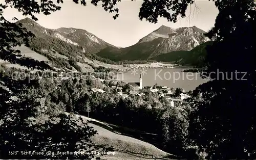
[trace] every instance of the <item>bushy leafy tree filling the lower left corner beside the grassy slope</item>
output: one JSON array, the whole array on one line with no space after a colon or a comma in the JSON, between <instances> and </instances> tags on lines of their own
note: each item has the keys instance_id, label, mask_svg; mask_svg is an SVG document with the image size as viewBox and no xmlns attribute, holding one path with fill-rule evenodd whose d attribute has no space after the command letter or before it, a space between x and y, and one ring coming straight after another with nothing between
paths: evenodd
<instances>
[{"instance_id":1,"label":"bushy leafy tree filling the lower left corner beside the grassy slope","mask_svg":"<svg viewBox=\"0 0 256 160\"><path fill-rule=\"evenodd\" d=\"M2 159L31 159L26 151L45 152L33 158L90 158L89 154L56 154L58 152L95 151L90 140L96 131L75 116L61 112L63 104L48 102L41 104L41 92L34 89L38 81L28 83L24 80L2 76L5 86L0 88L0 150ZM29 88L29 89L28 89ZM15 98L12 98L15 97ZM54 105L54 108L52 106ZM53 113L59 109L60 113ZM43 118L40 118L43 117ZM40 121L43 120L42 122ZM78 124L81 125L78 125ZM56 147L58 146L58 147ZM10 154L12 151L13 154ZM46 154L47 151L55 155Z\"/></svg>"}]
</instances>

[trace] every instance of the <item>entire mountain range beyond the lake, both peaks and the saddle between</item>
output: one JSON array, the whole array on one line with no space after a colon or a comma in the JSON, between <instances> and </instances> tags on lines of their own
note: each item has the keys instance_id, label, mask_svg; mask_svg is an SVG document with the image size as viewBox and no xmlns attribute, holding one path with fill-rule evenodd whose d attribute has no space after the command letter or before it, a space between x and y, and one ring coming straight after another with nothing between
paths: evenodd
<instances>
[{"instance_id":1,"label":"entire mountain range beyond the lake, both peaks and the saddle between","mask_svg":"<svg viewBox=\"0 0 256 160\"><path fill-rule=\"evenodd\" d=\"M47 63L53 67L78 71L81 65L94 68L95 62L114 65L119 61L161 60L161 55L188 51L209 41L204 36L205 32L196 26L173 29L162 25L138 43L121 48L82 29L47 29L30 18L16 23L22 23L23 27L35 35L29 38L26 47L46 57L49 60Z\"/></svg>"}]
</instances>

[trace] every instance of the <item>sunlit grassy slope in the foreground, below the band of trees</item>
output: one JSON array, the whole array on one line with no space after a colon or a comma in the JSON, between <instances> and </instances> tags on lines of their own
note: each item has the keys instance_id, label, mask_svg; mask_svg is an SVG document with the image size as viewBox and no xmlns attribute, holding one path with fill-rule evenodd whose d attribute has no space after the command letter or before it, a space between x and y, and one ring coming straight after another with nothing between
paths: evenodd
<instances>
[{"instance_id":1,"label":"sunlit grassy slope in the foreground, below the band of trees","mask_svg":"<svg viewBox=\"0 0 256 160\"><path fill-rule=\"evenodd\" d=\"M105 155L102 159L174 159L174 155L166 153L152 144L132 138L133 136L124 136L123 132L135 132L136 130L118 127L116 125L104 123L85 116L77 115L84 120L88 120L89 125L98 131L98 135L92 140L95 144L104 146L113 146L115 155Z\"/></svg>"}]
</instances>

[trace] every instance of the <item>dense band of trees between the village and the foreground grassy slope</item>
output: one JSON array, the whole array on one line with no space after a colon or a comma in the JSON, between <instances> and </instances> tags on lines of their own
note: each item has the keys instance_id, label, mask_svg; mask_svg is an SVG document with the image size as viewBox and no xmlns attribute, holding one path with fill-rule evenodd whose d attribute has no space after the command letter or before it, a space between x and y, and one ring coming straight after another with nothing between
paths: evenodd
<instances>
[{"instance_id":1,"label":"dense band of trees between the village and the foreground grassy slope","mask_svg":"<svg viewBox=\"0 0 256 160\"><path fill-rule=\"evenodd\" d=\"M7 69L3 66L2 71L5 71L6 76L12 75L15 71L25 72L25 70ZM37 74L33 75L36 76ZM47 112L56 113L62 110L87 116L87 109L90 106L91 118L141 130L142 135L140 136L143 136L144 132L156 134L157 136L152 137L154 141L150 139L148 141L168 152L180 154L185 151L184 142L187 139L188 127L187 115L191 108L185 110L178 107L173 108L170 106L170 101L160 98L157 93L152 93L146 89L140 91L140 93L146 95L144 97L131 95L127 99L122 99L117 96L120 90L111 87L111 81L102 83L98 79L93 79L90 74L85 78L70 78L60 82L57 81L56 77L54 81L51 78L42 78L38 85L34 87L33 91L36 90L36 92L46 96L45 105L49 110ZM128 94L133 90L131 86L125 83L118 83L117 87L122 87L123 91ZM52 90L52 88L55 89ZM103 89L106 92L94 93L90 90L92 88ZM179 89L177 89L178 93ZM30 92L30 96L33 97L34 94L36 93ZM59 105L51 106L51 101ZM183 102L179 105L188 105L188 103ZM179 125L170 126L170 122L179 122Z\"/></svg>"}]
</instances>

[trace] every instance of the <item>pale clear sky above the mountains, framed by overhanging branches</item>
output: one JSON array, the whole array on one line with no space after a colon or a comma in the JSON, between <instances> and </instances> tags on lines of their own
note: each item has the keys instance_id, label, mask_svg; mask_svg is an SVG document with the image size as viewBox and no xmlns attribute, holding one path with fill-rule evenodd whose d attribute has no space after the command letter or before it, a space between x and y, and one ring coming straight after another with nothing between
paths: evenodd
<instances>
[{"instance_id":1,"label":"pale clear sky above the mountains, framed by overhanging branches","mask_svg":"<svg viewBox=\"0 0 256 160\"><path fill-rule=\"evenodd\" d=\"M0 3L3 1L0 0ZM82 6L75 4L72 0L66 0L63 4L59 4L60 11L47 16L37 14L36 17L38 18L37 23L48 29L61 27L84 29L110 44L127 47L136 44L141 38L158 29L161 25L172 28L195 25L207 32L214 26L216 16L219 13L214 2L197 0L197 8L195 5L188 6L187 17L180 18L176 23L159 18L158 23L154 24L139 20L139 9L142 3L142 0L133 2L122 0L117 4L119 17L115 20L113 19L114 13L105 12L102 7L95 7L90 1L87 6ZM5 9L4 17L9 21L12 21L13 17L25 18L21 12L13 8Z\"/></svg>"}]
</instances>

